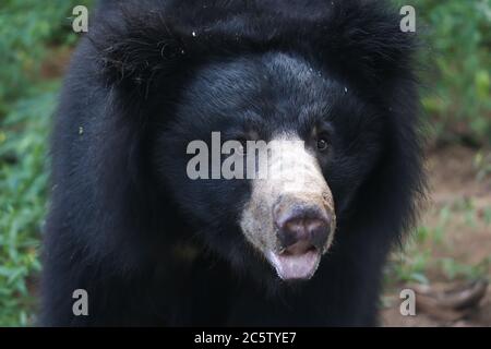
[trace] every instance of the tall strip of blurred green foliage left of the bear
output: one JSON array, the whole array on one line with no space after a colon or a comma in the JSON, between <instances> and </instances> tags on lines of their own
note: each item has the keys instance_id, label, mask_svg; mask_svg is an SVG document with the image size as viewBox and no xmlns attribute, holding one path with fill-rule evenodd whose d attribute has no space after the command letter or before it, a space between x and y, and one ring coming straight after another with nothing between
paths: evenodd
<instances>
[{"instance_id":1,"label":"tall strip of blurred green foliage left of the bear","mask_svg":"<svg viewBox=\"0 0 491 349\"><path fill-rule=\"evenodd\" d=\"M41 68L55 47L76 41L70 16L84 3L0 2L0 326L35 322L47 143L60 86Z\"/></svg>"}]
</instances>

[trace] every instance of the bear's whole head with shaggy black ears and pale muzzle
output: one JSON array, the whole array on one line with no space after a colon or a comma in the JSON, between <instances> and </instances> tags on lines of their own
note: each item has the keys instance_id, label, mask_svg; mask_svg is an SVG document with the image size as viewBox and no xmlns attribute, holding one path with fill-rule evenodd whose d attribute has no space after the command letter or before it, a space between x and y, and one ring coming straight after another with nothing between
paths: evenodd
<instances>
[{"instance_id":1,"label":"bear's whole head with shaggy black ears and pale muzzle","mask_svg":"<svg viewBox=\"0 0 491 349\"><path fill-rule=\"evenodd\" d=\"M260 278L309 279L342 227L397 236L410 220L412 45L375 2L267 3L128 5L95 46L121 110L142 116L163 206L192 228L182 240Z\"/></svg>"}]
</instances>

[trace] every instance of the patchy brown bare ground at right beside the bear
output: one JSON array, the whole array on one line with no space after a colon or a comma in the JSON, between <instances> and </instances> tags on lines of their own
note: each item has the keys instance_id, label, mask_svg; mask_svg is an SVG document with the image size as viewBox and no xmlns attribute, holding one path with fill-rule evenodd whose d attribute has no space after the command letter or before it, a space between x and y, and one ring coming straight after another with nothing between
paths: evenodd
<instances>
[{"instance_id":1,"label":"patchy brown bare ground at right beside the bear","mask_svg":"<svg viewBox=\"0 0 491 349\"><path fill-rule=\"evenodd\" d=\"M452 289L465 284L463 278L450 279L438 262L452 258L457 263L479 268L471 278L491 276L491 225L487 216L491 212L491 176L484 174L484 166L491 164L491 153L481 152L484 160L476 165L477 152L464 147L447 147L434 151L428 159L430 200L422 214L421 224L443 227L441 241L428 239L417 249L429 251L432 263L426 270L430 287ZM450 207L442 226L441 210ZM469 218L470 217L470 218ZM409 252L408 252L409 253ZM467 280L468 281L468 280ZM435 313L420 311L416 316L399 314L402 289L411 285L388 286L385 305L381 311L384 326L491 326L491 286L477 309L462 318L445 318ZM418 304L418 302L417 302Z\"/></svg>"}]
</instances>

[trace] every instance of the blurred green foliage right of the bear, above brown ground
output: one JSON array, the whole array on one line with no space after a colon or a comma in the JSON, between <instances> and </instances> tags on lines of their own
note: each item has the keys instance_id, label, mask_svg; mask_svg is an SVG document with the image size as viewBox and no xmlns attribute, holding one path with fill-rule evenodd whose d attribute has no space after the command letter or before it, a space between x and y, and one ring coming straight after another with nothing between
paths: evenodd
<instances>
[{"instance_id":1,"label":"blurred green foliage right of the bear, above brown ground","mask_svg":"<svg viewBox=\"0 0 491 349\"><path fill-rule=\"evenodd\" d=\"M399 0L424 40L422 105L436 141L491 144L491 0Z\"/></svg>"}]
</instances>

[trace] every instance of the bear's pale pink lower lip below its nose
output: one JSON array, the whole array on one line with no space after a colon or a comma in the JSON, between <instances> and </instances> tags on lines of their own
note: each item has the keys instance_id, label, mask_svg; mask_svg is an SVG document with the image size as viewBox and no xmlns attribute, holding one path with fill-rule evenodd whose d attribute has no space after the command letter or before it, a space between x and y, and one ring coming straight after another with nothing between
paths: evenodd
<instances>
[{"instance_id":1,"label":"bear's pale pink lower lip below its nose","mask_svg":"<svg viewBox=\"0 0 491 349\"><path fill-rule=\"evenodd\" d=\"M266 257L283 280L310 279L321 262L321 253L316 249L308 250L301 254L270 251Z\"/></svg>"}]
</instances>

